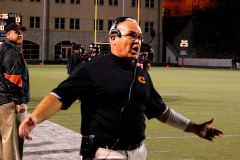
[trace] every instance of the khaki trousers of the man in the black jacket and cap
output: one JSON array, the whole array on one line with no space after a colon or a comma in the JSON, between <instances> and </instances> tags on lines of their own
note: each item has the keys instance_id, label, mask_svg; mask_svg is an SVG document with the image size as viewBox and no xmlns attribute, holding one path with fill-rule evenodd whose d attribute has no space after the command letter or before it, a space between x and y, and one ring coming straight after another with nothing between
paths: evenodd
<instances>
[{"instance_id":1,"label":"khaki trousers of the man in the black jacket and cap","mask_svg":"<svg viewBox=\"0 0 240 160\"><path fill-rule=\"evenodd\" d=\"M0 106L0 160L21 160L23 139L19 137L18 127L25 113L18 113L13 102Z\"/></svg>"}]
</instances>

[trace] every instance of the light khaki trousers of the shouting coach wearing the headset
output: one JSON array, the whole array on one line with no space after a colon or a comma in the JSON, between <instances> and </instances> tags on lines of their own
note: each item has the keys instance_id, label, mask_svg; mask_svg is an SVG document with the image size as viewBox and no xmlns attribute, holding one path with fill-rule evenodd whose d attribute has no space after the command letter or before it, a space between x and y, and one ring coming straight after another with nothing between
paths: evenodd
<instances>
[{"instance_id":1,"label":"light khaki trousers of the shouting coach wearing the headset","mask_svg":"<svg viewBox=\"0 0 240 160\"><path fill-rule=\"evenodd\" d=\"M139 148L132 151L125 150L109 150L99 148L95 154L94 160L146 160L147 149L143 143Z\"/></svg>"}]
</instances>

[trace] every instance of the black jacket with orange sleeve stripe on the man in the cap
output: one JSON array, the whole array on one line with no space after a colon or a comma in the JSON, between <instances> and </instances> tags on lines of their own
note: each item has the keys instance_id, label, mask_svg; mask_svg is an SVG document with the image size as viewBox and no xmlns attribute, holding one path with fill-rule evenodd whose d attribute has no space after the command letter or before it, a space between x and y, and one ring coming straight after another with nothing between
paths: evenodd
<instances>
[{"instance_id":1,"label":"black jacket with orange sleeve stripe on the man in the cap","mask_svg":"<svg viewBox=\"0 0 240 160\"><path fill-rule=\"evenodd\" d=\"M0 105L30 100L29 74L19 48L10 40L0 42Z\"/></svg>"}]
</instances>

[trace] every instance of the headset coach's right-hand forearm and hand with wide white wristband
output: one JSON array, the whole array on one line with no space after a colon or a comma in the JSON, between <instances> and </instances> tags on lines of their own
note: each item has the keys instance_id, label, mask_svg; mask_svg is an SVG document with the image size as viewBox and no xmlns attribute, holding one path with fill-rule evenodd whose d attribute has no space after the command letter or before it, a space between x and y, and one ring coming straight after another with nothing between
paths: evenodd
<instances>
[{"instance_id":1,"label":"headset coach's right-hand forearm and hand with wide white wristband","mask_svg":"<svg viewBox=\"0 0 240 160\"><path fill-rule=\"evenodd\" d=\"M194 133L199 137L212 142L217 136L221 137L223 135L222 131L211 126L214 118L212 118L212 120L208 122L196 124L189 119L183 117L182 115L178 114L174 110L168 108L167 111L163 115L159 116L157 119L162 123L166 123L185 132Z\"/></svg>"}]
</instances>

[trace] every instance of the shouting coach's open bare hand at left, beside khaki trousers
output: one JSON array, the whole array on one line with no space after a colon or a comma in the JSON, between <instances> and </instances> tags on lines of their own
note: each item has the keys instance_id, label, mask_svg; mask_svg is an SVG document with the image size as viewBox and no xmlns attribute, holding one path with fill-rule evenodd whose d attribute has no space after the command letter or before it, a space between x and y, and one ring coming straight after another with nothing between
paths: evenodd
<instances>
[{"instance_id":1,"label":"shouting coach's open bare hand at left, beside khaki trousers","mask_svg":"<svg viewBox=\"0 0 240 160\"><path fill-rule=\"evenodd\" d=\"M19 136L23 139L32 140L29 136L29 133L36 127L37 119L28 117L24 121L22 121L21 125L19 126Z\"/></svg>"}]
</instances>

